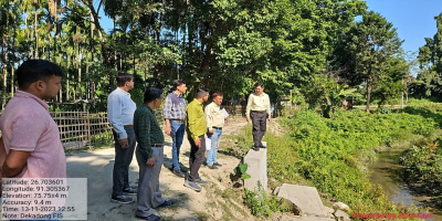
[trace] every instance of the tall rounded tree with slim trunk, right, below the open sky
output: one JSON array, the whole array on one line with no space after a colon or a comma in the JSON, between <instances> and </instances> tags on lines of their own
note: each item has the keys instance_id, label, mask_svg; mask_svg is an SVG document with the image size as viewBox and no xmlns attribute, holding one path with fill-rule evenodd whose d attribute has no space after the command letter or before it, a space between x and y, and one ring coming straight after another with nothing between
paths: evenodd
<instances>
[{"instance_id":1,"label":"tall rounded tree with slim trunk, right, below the open sky","mask_svg":"<svg viewBox=\"0 0 442 221\"><path fill-rule=\"evenodd\" d=\"M343 69L340 75L349 85L364 84L369 112L373 88L387 90L389 86L380 85L398 81L398 74L403 76L407 71L398 62L403 41L393 24L373 11L364 14L338 41L334 65Z\"/></svg>"}]
</instances>

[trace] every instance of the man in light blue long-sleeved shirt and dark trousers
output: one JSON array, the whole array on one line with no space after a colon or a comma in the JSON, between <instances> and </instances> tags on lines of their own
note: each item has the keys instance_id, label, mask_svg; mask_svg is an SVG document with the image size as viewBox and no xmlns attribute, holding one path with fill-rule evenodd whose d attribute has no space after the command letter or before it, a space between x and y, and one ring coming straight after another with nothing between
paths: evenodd
<instances>
[{"instance_id":1,"label":"man in light blue long-sleeved shirt and dark trousers","mask_svg":"<svg viewBox=\"0 0 442 221\"><path fill-rule=\"evenodd\" d=\"M129 186L129 165L136 144L134 112L137 105L128 93L133 88L134 76L120 73L117 75L117 88L107 97L107 118L113 127L115 140L112 202L130 203L134 200L125 194L137 194L137 190Z\"/></svg>"}]
</instances>

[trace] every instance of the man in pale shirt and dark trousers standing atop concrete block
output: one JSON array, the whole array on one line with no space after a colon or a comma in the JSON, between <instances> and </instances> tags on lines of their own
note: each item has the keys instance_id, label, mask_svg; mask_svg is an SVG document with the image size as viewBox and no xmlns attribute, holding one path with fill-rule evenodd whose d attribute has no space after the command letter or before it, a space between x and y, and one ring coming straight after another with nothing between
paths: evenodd
<instances>
[{"instance_id":1,"label":"man in pale shirt and dark trousers standing atop concrete block","mask_svg":"<svg viewBox=\"0 0 442 221\"><path fill-rule=\"evenodd\" d=\"M255 92L249 96L245 116L249 123L252 118L253 150L257 151L260 148L265 148L261 140L267 127L266 119L271 119L271 112L270 98L269 95L264 93L264 85L262 83L256 83L254 91Z\"/></svg>"}]
</instances>

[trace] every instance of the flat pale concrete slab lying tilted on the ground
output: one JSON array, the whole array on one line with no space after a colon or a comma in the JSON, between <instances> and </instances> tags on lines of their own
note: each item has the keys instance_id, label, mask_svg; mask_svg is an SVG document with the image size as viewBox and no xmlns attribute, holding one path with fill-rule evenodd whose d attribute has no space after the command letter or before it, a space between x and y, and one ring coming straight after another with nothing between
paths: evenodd
<instances>
[{"instance_id":1,"label":"flat pale concrete slab lying tilted on the ground","mask_svg":"<svg viewBox=\"0 0 442 221\"><path fill-rule=\"evenodd\" d=\"M314 187L287 185L284 183L277 193L277 197L284 198L294 204L294 210L302 217L328 217L323 201Z\"/></svg>"}]
</instances>

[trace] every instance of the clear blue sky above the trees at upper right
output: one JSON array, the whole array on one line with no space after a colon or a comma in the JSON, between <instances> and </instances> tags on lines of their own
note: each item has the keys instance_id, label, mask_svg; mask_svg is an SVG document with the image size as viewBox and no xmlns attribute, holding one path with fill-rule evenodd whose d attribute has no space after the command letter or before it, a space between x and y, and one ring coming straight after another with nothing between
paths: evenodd
<instances>
[{"instance_id":1,"label":"clear blue sky above the trees at upper right","mask_svg":"<svg viewBox=\"0 0 442 221\"><path fill-rule=\"evenodd\" d=\"M368 10L380 13L397 28L404 40L402 49L419 52L424 38L436 32L434 17L442 12L442 0L366 0Z\"/></svg>"}]
</instances>

